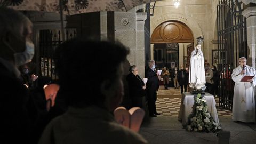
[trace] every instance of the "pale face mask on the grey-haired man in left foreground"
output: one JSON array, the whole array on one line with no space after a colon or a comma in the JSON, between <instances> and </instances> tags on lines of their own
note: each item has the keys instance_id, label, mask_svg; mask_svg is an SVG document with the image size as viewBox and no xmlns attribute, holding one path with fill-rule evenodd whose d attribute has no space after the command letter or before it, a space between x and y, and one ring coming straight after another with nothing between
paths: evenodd
<instances>
[{"instance_id":1,"label":"pale face mask on the grey-haired man in left foreground","mask_svg":"<svg viewBox=\"0 0 256 144\"><path fill-rule=\"evenodd\" d=\"M35 46L31 42L26 42L26 50L24 52L14 53L14 60L16 66L28 63L35 54Z\"/></svg>"}]
</instances>

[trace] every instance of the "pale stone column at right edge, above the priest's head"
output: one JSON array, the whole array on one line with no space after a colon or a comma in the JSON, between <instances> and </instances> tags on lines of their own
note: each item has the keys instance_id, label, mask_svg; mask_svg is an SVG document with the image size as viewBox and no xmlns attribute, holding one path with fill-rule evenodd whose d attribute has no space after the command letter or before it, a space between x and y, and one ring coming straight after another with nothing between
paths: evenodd
<instances>
[{"instance_id":1,"label":"pale stone column at right edge, above the priest's head","mask_svg":"<svg viewBox=\"0 0 256 144\"><path fill-rule=\"evenodd\" d=\"M251 61L252 67L256 68L256 7L248 7L242 15L246 18L247 44L250 50L247 61Z\"/></svg>"}]
</instances>

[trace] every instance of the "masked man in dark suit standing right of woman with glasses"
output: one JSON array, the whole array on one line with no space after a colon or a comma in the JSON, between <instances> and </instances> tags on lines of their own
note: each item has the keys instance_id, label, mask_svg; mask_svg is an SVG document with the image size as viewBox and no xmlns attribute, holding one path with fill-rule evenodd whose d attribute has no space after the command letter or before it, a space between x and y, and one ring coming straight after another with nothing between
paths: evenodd
<instances>
[{"instance_id":1,"label":"masked man in dark suit standing right of woman with glasses","mask_svg":"<svg viewBox=\"0 0 256 144\"><path fill-rule=\"evenodd\" d=\"M148 69L146 71L146 78L148 78L148 81L146 83L146 92L148 99L149 116L151 117L156 117L156 115L160 115L156 112L156 91L159 88L159 84L155 68L155 61L150 60Z\"/></svg>"}]
</instances>

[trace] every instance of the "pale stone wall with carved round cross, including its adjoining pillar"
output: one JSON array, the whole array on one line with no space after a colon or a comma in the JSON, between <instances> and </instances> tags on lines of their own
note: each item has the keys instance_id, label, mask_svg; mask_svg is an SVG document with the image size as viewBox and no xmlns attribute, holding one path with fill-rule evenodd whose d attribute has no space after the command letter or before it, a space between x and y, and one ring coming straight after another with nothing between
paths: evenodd
<instances>
[{"instance_id":1,"label":"pale stone wall with carved round cross, including its adjoining pillar","mask_svg":"<svg viewBox=\"0 0 256 144\"><path fill-rule=\"evenodd\" d=\"M115 12L115 39L130 48L127 60L130 65L138 67L139 75L143 78L145 77L144 23L146 13L135 12L139 8L135 7L129 12Z\"/></svg>"}]
</instances>

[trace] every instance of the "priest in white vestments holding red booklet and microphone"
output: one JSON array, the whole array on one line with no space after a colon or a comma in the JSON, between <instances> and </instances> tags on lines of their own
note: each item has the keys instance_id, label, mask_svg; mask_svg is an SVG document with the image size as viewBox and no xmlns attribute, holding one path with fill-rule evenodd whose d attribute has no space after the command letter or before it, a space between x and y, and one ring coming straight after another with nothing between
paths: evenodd
<instances>
[{"instance_id":1,"label":"priest in white vestments holding red booklet and microphone","mask_svg":"<svg viewBox=\"0 0 256 144\"><path fill-rule=\"evenodd\" d=\"M246 58L239 58L239 66L232 72L235 82L233 97L233 121L255 122L254 86L256 85L256 71L246 65ZM244 69L244 70L243 70ZM241 82L244 76L254 76L248 82Z\"/></svg>"}]
</instances>

